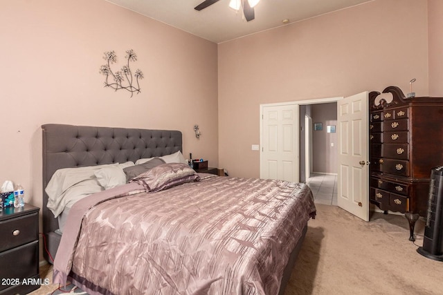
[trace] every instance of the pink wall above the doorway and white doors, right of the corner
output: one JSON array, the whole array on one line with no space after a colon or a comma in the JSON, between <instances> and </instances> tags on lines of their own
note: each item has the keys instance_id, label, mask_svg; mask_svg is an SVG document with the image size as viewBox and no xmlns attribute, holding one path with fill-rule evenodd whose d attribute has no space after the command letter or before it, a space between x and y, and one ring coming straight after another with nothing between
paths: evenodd
<instances>
[{"instance_id":1,"label":"pink wall above the doorway and white doors, right of the corner","mask_svg":"<svg viewBox=\"0 0 443 295\"><path fill-rule=\"evenodd\" d=\"M413 78L428 95L427 19L426 0L376 0L219 44L219 166L260 176L260 104L406 92Z\"/></svg>"}]
</instances>

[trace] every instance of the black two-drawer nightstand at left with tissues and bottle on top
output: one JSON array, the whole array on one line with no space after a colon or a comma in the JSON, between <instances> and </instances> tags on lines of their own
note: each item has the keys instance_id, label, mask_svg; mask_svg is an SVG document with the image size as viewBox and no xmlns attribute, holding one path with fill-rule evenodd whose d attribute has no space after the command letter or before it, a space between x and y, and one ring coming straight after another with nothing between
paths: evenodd
<instances>
[{"instance_id":1,"label":"black two-drawer nightstand at left with tissues and bottle on top","mask_svg":"<svg viewBox=\"0 0 443 295\"><path fill-rule=\"evenodd\" d=\"M39 276L39 208L4 207L0 212L0 294L28 294Z\"/></svg>"}]
</instances>

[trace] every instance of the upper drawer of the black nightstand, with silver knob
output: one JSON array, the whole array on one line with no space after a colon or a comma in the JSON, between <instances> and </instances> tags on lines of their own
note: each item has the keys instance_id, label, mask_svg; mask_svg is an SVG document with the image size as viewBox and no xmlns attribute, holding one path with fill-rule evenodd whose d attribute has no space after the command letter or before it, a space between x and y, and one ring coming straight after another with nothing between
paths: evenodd
<instances>
[{"instance_id":1,"label":"upper drawer of the black nightstand, with silver knob","mask_svg":"<svg viewBox=\"0 0 443 295\"><path fill-rule=\"evenodd\" d=\"M38 239L38 213L32 213L0 222L0 251ZM0 264L1 265L1 264Z\"/></svg>"}]
</instances>

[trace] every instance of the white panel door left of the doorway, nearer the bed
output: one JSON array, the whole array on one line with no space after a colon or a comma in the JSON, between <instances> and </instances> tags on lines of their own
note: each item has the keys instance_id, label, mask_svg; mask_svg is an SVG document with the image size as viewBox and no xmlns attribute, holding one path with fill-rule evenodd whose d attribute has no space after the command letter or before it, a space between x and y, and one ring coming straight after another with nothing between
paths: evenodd
<instances>
[{"instance_id":1,"label":"white panel door left of the doorway, nearer the bed","mask_svg":"<svg viewBox=\"0 0 443 295\"><path fill-rule=\"evenodd\" d=\"M262 106L260 178L298 182L298 104Z\"/></svg>"}]
</instances>

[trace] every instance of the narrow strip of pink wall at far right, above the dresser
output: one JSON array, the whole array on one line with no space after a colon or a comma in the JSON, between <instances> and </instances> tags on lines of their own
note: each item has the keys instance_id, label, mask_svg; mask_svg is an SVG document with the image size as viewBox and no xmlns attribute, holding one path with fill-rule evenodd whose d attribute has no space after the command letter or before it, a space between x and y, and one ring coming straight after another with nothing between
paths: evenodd
<instances>
[{"instance_id":1,"label":"narrow strip of pink wall at far right, above the dresser","mask_svg":"<svg viewBox=\"0 0 443 295\"><path fill-rule=\"evenodd\" d=\"M429 95L443 96L443 1L428 0Z\"/></svg>"}]
</instances>

